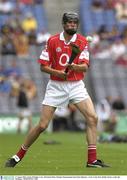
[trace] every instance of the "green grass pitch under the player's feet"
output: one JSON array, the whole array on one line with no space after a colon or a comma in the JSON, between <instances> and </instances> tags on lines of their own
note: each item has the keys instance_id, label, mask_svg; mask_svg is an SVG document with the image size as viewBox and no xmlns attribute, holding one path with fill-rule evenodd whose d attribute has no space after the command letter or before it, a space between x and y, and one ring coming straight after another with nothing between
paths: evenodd
<instances>
[{"instance_id":1,"label":"green grass pitch under the player's feet","mask_svg":"<svg viewBox=\"0 0 127 180\"><path fill-rule=\"evenodd\" d=\"M0 175L127 175L127 144L97 144L98 158L110 168L86 168L87 144L84 133L41 134L15 168L4 163L23 143L24 135L0 135ZM45 145L55 140L58 144Z\"/></svg>"}]
</instances>

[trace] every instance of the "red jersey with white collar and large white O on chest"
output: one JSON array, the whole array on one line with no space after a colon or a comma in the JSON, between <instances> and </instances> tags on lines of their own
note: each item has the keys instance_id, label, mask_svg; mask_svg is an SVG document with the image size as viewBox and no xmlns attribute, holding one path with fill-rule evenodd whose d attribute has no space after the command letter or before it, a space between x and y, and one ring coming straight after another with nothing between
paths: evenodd
<instances>
[{"instance_id":1,"label":"red jersey with white collar and large white O on chest","mask_svg":"<svg viewBox=\"0 0 127 180\"><path fill-rule=\"evenodd\" d=\"M74 43L81 50L81 53L74 59L73 63L86 63L89 66L88 42L86 38L80 34L74 34L70 42L66 43L63 32L49 38L47 47L42 51L38 62L51 66L51 68L56 70L65 70L71 56L70 43ZM63 79L53 75L50 75L50 78L52 80L63 81ZM68 81L77 81L83 78L84 72L76 72L73 70L69 70L68 72Z\"/></svg>"}]
</instances>

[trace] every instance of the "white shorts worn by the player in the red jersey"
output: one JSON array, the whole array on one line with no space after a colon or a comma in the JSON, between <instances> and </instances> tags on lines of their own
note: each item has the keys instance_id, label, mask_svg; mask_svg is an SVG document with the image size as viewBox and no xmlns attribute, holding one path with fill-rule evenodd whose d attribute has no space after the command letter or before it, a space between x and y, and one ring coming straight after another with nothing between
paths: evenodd
<instances>
[{"instance_id":1,"label":"white shorts worn by the player in the red jersey","mask_svg":"<svg viewBox=\"0 0 127 180\"><path fill-rule=\"evenodd\" d=\"M49 80L42 104L53 107L65 107L76 104L89 97L85 84L80 81L53 81Z\"/></svg>"}]
</instances>

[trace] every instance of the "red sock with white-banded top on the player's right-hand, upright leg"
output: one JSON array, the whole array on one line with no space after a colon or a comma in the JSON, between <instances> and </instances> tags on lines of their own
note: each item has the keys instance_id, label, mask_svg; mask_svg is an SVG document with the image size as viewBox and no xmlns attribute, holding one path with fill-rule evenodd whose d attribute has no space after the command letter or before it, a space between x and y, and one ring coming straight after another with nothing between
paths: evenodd
<instances>
[{"instance_id":1,"label":"red sock with white-banded top on the player's right-hand, upright leg","mask_svg":"<svg viewBox=\"0 0 127 180\"><path fill-rule=\"evenodd\" d=\"M97 160L96 157L96 145L88 145L88 163L92 163Z\"/></svg>"}]
</instances>

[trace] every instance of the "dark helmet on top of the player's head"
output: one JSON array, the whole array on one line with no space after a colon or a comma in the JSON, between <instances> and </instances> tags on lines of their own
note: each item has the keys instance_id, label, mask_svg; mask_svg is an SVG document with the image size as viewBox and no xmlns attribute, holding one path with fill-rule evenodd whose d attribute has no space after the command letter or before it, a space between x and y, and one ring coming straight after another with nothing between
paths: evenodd
<instances>
[{"instance_id":1,"label":"dark helmet on top of the player's head","mask_svg":"<svg viewBox=\"0 0 127 180\"><path fill-rule=\"evenodd\" d=\"M79 15L75 12L66 12L63 14L62 23L66 24L68 21L75 21L79 23Z\"/></svg>"}]
</instances>

